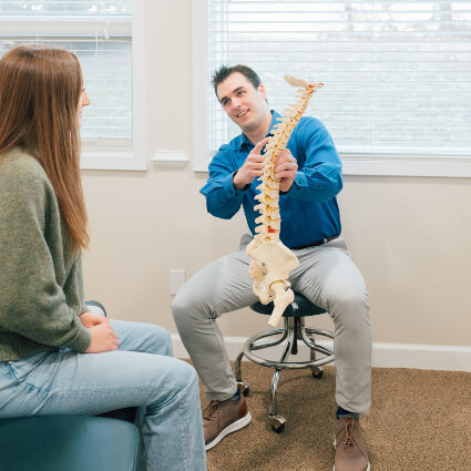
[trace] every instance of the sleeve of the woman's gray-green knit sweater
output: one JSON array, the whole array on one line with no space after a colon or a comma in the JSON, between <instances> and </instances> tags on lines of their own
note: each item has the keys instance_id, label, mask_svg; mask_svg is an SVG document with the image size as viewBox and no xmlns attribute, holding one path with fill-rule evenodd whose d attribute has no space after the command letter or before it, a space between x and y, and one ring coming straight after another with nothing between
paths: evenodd
<instances>
[{"instance_id":1,"label":"sleeve of the woman's gray-green knit sweater","mask_svg":"<svg viewBox=\"0 0 471 471\"><path fill-rule=\"evenodd\" d=\"M61 236L44 233L54 214L59 207L45 175L0 168L0 326L39 344L83 351L91 335L66 303L49 245Z\"/></svg>"}]
</instances>

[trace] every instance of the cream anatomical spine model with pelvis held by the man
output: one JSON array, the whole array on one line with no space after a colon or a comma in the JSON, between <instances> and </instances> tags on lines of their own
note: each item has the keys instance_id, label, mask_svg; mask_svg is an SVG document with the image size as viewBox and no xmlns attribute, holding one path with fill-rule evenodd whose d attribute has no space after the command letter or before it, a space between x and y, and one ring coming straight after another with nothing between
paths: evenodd
<instances>
[{"instance_id":1,"label":"cream anatomical spine model with pelvis held by the man","mask_svg":"<svg viewBox=\"0 0 471 471\"><path fill-rule=\"evenodd\" d=\"M255 196L258 204L254 207L260 213L255 222L257 233L248 244L246 252L250 257L248 273L254 280L254 293L262 304L274 301L275 308L268 324L276 326L286 307L293 303L295 295L288 281L289 274L299 265L296 255L279 239L281 216L279 214L279 183L275 177L274 165L277 155L286 149L293 130L299 123L313 93L322 88L322 83L309 83L294 76L285 75L293 86L298 86L296 103L284 111L284 117L273 131L274 135L266 144L260 193Z\"/></svg>"}]
</instances>

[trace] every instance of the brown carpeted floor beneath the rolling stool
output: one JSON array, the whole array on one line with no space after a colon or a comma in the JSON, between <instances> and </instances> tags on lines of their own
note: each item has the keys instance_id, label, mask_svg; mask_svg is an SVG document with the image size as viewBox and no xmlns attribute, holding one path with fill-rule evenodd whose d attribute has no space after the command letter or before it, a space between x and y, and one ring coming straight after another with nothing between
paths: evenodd
<instances>
[{"instance_id":1,"label":"brown carpeted floor beneath the rolling stool","mask_svg":"<svg viewBox=\"0 0 471 471\"><path fill-rule=\"evenodd\" d=\"M272 375L243 362L253 421L207 452L208 471L332 469L335 368L320 380L308 370L281 372L279 434L266 420ZM371 413L361 424L371 471L471 471L471 373L375 368Z\"/></svg>"}]
</instances>

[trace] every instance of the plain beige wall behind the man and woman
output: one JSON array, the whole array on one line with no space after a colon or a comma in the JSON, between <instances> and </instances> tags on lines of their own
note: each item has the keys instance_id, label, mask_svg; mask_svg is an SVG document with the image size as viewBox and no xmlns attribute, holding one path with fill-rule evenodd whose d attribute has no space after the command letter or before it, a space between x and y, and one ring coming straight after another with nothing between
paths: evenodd
<instances>
[{"instance_id":1,"label":"plain beige wall behind the man and woman","mask_svg":"<svg viewBox=\"0 0 471 471\"><path fill-rule=\"evenodd\" d=\"M147 2L147 19L149 157L158 150L192 157L191 1ZM88 298L103 301L111 317L176 331L170 269L193 275L234 250L246 229L240 214L227 222L206 213L198 194L205 178L191 164L83 172ZM375 341L471 345L469 202L468 178L345 177L344 236L370 293ZM266 318L244 309L219 325L226 336L248 336Z\"/></svg>"}]
</instances>

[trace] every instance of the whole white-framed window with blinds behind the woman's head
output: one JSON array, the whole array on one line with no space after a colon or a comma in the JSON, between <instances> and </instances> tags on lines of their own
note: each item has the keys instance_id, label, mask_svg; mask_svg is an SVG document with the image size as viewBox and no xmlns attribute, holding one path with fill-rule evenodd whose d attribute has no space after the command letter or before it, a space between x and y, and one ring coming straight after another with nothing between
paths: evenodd
<instances>
[{"instance_id":1,"label":"whole white-framed window with blinds behind the woman's head","mask_svg":"<svg viewBox=\"0 0 471 471\"><path fill-rule=\"evenodd\" d=\"M92 102L82 168L145 170L144 0L3 0L0 55L35 42L74 52Z\"/></svg>"}]
</instances>

